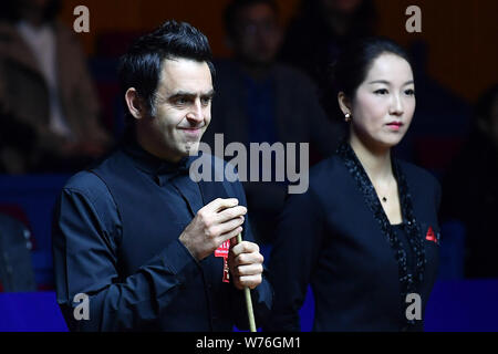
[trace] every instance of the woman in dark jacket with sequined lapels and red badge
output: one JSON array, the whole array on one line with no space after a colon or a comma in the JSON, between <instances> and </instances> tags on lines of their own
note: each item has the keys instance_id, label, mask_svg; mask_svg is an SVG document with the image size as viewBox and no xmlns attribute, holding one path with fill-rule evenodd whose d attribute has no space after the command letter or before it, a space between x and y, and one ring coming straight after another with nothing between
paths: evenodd
<instances>
[{"instance_id":1,"label":"woman in dark jacket with sequined lapels and red badge","mask_svg":"<svg viewBox=\"0 0 498 354\"><path fill-rule=\"evenodd\" d=\"M334 66L347 136L291 195L270 257L270 331L299 331L311 284L314 331L421 331L438 267L439 185L392 148L409 127L415 82L405 51L364 39ZM320 128L320 127L317 127Z\"/></svg>"}]
</instances>

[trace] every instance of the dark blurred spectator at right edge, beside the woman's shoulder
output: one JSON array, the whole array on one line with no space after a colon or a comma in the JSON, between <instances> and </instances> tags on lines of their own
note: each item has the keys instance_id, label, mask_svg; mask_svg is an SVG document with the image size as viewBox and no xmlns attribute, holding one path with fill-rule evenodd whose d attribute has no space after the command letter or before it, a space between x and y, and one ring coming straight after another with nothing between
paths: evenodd
<instances>
[{"instance_id":1,"label":"dark blurred spectator at right edge, beside the woman's shoulder","mask_svg":"<svg viewBox=\"0 0 498 354\"><path fill-rule=\"evenodd\" d=\"M465 277L498 278L498 85L478 100L470 136L443 180L443 218L465 228Z\"/></svg>"}]
</instances>

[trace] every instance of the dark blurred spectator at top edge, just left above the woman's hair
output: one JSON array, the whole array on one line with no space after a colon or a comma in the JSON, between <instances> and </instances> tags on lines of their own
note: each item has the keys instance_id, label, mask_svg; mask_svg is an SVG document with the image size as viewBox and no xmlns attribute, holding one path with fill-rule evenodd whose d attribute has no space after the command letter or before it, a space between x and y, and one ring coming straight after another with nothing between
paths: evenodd
<instances>
[{"instance_id":1,"label":"dark blurred spectator at top edge, just left above the woman's hair","mask_svg":"<svg viewBox=\"0 0 498 354\"><path fill-rule=\"evenodd\" d=\"M322 69L339 58L345 44L373 34L375 19L372 0L302 0L280 56L320 83Z\"/></svg>"}]
</instances>

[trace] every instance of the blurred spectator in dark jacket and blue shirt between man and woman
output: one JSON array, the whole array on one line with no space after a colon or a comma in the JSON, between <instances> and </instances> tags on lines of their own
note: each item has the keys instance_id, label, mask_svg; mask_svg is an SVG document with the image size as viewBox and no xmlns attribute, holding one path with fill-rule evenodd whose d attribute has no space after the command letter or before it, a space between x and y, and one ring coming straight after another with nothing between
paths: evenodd
<instances>
[{"instance_id":1,"label":"blurred spectator in dark jacket and blue shirt between man and woman","mask_svg":"<svg viewBox=\"0 0 498 354\"><path fill-rule=\"evenodd\" d=\"M204 140L211 149L217 133L224 134L225 145L309 143L312 164L333 152L339 127L326 118L312 81L276 62L281 44L278 15L271 0L234 0L227 7L225 27L235 58L215 63L212 121ZM256 237L271 242L286 184L251 181L245 188Z\"/></svg>"}]
</instances>

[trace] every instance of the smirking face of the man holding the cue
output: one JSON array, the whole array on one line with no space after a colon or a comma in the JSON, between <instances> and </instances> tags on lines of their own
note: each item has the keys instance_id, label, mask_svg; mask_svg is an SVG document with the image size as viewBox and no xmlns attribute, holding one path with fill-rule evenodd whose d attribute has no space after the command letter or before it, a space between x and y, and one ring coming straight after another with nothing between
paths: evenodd
<instances>
[{"instance_id":1,"label":"smirking face of the man holding the cue","mask_svg":"<svg viewBox=\"0 0 498 354\"><path fill-rule=\"evenodd\" d=\"M138 139L160 158L178 162L198 149L211 119L212 80L206 62L166 59L156 91L155 116L141 119Z\"/></svg>"}]
</instances>

